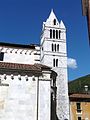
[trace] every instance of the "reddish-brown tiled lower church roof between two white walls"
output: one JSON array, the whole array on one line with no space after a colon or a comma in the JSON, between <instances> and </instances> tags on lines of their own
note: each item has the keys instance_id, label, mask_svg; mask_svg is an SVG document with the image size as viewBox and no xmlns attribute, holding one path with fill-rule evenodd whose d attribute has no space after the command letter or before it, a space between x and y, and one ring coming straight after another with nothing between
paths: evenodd
<instances>
[{"instance_id":1,"label":"reddish-brown tiled lower church roof between two white walls","mask_svg":"<svg viewBox=\"0 0 90 120\"><path fill-rule=\"evenodd\" d=\"M40 72L42 68L50 69L48 66L41 64L30 65L30 64L0 62L0 69L29 70L29 71Z\"/></svg>"}]
</instances>

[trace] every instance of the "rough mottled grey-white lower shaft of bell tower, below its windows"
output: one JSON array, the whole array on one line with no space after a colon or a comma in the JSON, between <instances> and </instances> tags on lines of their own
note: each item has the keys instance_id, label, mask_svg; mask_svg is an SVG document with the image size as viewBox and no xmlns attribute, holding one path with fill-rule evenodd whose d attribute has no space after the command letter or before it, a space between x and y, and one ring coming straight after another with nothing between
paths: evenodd
<instances>
[{"instance_id":1,"label":"rough mottled grey-white lower shaft of bell tower, below its windows","mask_svg":"<svg viewBox=\"0 0 90 120\"><path fill-rule=\"evenodd\" d=\"M68 97L68 81L67 68L53 68L56 71L57 80L57 107L56 113L59 120L69 120L69 97Z\"/></svg>"}]
</instances>

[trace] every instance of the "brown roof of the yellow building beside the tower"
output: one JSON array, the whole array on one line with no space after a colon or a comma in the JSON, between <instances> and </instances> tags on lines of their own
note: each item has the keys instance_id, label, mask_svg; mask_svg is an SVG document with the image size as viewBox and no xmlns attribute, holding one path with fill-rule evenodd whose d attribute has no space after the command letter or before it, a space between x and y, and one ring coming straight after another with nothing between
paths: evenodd
<instances>
[{"instance_id":1,"label":"brown roof of the yellow building beside the tower","mask_svg":"<svg viewBox=\"0 0 90 120\"><path fill-rule=\"evenodd\" d=\"M70 94L69 95L70 101L86 101L89 100L90 101L90 94L87 93L83 93L83 94L79 94L79 93L75 93L75 94Z\"/></svg>"}]
</instances>

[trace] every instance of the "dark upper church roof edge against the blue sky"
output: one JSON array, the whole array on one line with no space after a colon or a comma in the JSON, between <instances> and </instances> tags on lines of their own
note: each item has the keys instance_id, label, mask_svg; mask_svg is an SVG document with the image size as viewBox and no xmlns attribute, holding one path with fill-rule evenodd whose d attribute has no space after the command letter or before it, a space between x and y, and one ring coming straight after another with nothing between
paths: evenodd
<instances>
[{"instance_id":1,"label":"dark upper church roof edge against the blue sky","mask_svg":"<svg viewBox=\"0 0 90 120\"><path fill-rule=\"evenodd\" d=\"M0 46L35 49L35 47L39 46L39 45L34 45L34 44L24 45L24 44L14 44L14 43L0 42Z\"/></svg>"}]
</instances>

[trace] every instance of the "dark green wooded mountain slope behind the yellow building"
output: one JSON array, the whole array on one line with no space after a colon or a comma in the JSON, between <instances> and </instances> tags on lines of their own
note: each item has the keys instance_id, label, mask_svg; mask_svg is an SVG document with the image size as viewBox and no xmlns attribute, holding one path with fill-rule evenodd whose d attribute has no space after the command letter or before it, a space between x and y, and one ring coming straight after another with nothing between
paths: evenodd
<instances>
[{"instance_id":1,"label":"dark green wooded mountain slope behind the yellow building","mask_svg":"<svg viewBox=\"0 0 90 120\"><path fill-rule=\"evenodd\" d=\"M69 81L69 93L85 93L85 85L88 86L88 92L90 92L90 74L73 81Z\"/></svg>"}]
</instances>

